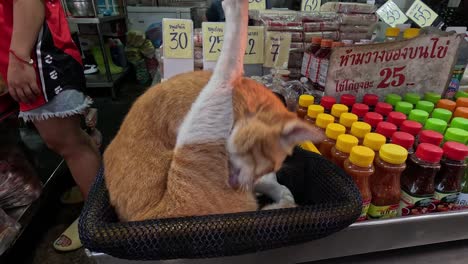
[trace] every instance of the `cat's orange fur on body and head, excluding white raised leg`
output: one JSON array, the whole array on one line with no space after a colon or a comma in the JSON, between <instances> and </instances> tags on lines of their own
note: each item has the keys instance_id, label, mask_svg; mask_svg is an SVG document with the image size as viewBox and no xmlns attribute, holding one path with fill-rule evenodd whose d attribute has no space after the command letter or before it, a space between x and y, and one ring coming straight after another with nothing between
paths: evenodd
<instances>
[{"instance_id":1,"label":"cat's orange fur on body and head, excluding white raised leg","mask_svg":"<svg viewBox=\"0 0 468 264\"><path fill-rule=\"evenodd\" d=\"M210 76L205 71L175 76L149 89L130 109L104 153L110 201L121 220L257 209L252 190L228 184L225 141L174 149L178 127ZM235 85L233 107L240 127L232 138L235 155L251 163L256 179L278 170L293 146L282 146L282 131L301 121L263 85L247 78Z\"/></svg>"}]
</instances>

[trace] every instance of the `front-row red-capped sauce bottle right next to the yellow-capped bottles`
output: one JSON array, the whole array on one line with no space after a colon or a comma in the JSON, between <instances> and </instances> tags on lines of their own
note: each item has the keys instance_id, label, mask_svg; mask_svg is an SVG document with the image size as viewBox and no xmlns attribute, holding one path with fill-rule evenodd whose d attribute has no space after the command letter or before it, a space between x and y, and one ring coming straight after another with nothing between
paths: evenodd
<instances>
[{"instance_id":1,"label":"front-row red-capped sauce bottle right next to the yellow-capped bottles","mask_svg":"<svg viewBox=\"0 0 468 264\"><path fill-rule=\"evenodd\" d=\"M443 150L435 145L419 144L409 156L401 175L399 215L421 215L435 211L434 180L440 170Z\"/></svg>"}]
</instances>

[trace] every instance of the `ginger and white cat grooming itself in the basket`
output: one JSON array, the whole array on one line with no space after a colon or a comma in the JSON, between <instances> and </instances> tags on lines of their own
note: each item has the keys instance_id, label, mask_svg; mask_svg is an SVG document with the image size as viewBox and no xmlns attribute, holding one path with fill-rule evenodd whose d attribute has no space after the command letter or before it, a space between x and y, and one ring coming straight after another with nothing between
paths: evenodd
<instances>
[{"instance_id":1,"label":"ginger and white cat grooming itself in the basket","mask_svg":"<svg viewBox=\"0 0 468 264\"><path fill-rule=\"evenodd\" d=\"M223 8L226 33L213 74L181 74L149 89L104 153L122 221L255 211L254 183L277 171L297 143L323 138L242 77L248 0L225 0Z\"/></svg>"}]
</instances>

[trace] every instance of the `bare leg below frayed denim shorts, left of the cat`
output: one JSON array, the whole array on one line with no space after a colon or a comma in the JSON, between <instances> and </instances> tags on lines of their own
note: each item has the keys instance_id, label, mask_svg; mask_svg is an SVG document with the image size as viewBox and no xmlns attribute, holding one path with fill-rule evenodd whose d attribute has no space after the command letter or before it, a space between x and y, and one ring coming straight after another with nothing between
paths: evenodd
<instances>
[{"instance_id":1,"label":"bare leg below frayed denim shorts, left of the cat","mask_svg":"<svg viewBox=\"0 0 468 264\"><path fill-rule=\"evenodd\" d=\"M65 159L86 199L101 158L91 138L81 129L80 117L51 118L35 121L34 125L47 146Z\"/></svg>"}]
</instances>

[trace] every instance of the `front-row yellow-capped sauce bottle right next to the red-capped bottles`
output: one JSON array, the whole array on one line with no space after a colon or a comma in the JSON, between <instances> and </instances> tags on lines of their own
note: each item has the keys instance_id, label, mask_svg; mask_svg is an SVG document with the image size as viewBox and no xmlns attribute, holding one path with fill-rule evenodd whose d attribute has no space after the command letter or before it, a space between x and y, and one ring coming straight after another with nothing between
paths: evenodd
<instances>
[{"instance_id":1,"label":"front-row yellow-capped sauce bottle right next to the red-capped bottles","mask_svg":"<svg viewBox=\"0 0 468 264\"><path fill-rule=\"evenodd\" d=\"M370 177L372 202L369 219L385 219L398 215L400 175L406 168L408 151L396 144L385 144L375 157L375 173Z\"/></svg>"}]
</instances>

